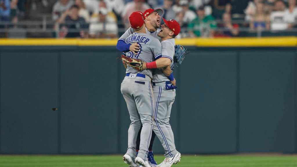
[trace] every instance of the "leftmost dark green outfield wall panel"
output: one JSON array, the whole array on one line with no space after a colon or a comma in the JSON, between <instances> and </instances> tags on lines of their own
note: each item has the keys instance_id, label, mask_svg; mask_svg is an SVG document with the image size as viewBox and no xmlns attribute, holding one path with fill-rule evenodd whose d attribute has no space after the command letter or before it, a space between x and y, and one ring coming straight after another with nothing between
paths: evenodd
<instances>
[{"instance_id":1,"label":"leftmost dark green outfield wall panel","mask_svg":"<svg viewBox=\"0 0 297 167\"><path fill-rule=\"evenodd\" d=\"M1 153L58 153L58 53L1 51Z\"/></svg>"}]
</instances>

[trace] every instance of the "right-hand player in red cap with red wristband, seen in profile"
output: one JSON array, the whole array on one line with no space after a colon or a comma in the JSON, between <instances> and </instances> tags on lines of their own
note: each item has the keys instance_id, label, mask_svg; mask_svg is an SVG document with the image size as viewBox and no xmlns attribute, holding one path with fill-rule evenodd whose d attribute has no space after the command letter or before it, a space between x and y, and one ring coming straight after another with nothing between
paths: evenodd
<instances>
[{"instance_id":1,"label":"right-hand player in red cap with red wristband, seen in profile","mask_svg":"<svg viewBox=\"0 0 297 167\"><path fill-rule=\"evenodd\" d=\"M156 135L160 139L165 149L165 160L157 167L170 167L173 164L180 162L181 159L181 154L175 148L174 135L169 124L171 107L176 96L176 86L173 86L175 84L175 79L171 72L171 70L173 70L174 67L174 38L176 37L176 35L179 34L180 26L175 20L163 20L165 24L162 25L162 30L158 33L158 36L162 39L161 56L163 58L167 58L171 62L171 64L164 68L164 61L159 61L159 59L149 63L142 62L141 60L139 60L142 67L137 66L136 69L155 69L153 71L152 81L153 92L155 97L155 120L153 130L155 131ZM137 60L132 62L134 64L138 63ZM133 64L131 66L133 67Z\"/></svg>"}]
</instances>

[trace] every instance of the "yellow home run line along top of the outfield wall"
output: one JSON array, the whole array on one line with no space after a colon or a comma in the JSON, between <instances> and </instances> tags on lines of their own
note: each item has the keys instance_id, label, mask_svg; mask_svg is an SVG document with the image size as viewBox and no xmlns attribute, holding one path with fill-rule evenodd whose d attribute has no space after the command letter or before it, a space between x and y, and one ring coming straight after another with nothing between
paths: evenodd
<instances>
[{"instance_id":1,"label":"yellow home run line along top of the outfield wall","mask_svg":"<svg viewBox=\"0 0 297 167\"><path fill-rule=\"evenodd\" d=\"M2 46L116 46L118 39L0 39ZM197 47L294 47L297 37L184 38L176 44Z\"/></svg>"}]
</instances>

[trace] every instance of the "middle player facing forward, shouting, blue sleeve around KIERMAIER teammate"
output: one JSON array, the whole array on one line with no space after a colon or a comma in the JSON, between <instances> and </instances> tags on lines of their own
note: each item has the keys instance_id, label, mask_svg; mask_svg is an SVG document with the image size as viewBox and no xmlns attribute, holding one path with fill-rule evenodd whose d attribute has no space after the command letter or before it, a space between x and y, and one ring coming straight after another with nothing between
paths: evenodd
<instances>
[{"instance_id":1,"label":"middle player facing forward, shouting, blue sleeve around KIERMAIER teammate","mask_svg":"<svg viewBox=\"0 0 297 167\"><path fill-rule=\"evenodd\" d=\"M160 37L158 37L158 32L161 31L161 29L159 29L160 27L160 16L163 14L163 10L162 9L147 9L144 13L143 13L143 18L145 19L145 26L146 26L146 33L150 34L151 36L157 38L158 40L161 40ZM134 29L132 27L130 27L118 40L118 43L116 45L116 48L125 53L125 52L129 52L131 51L134 54L137 54L139 51L140 46L138 45L138 43L126 43L125 39L130 35L133 34ZM129 55L128 55L129 56ZM162 59L161 59L162 60ZM168 62L167 62L168 63ZM169 62L170 64L170 62ZM152 133L152 137L151 137L151 141L150 141L150 146L149 146L149 154L148 154L148 160L149 163L151 164L151 166L157 166L156 161L154 160L154 155L152 152L152 147L153 147L153 143L154 143L154 139L155 139L156 134ZM137 138L137 148L136 151L139 150L139 141L140 141L140 132Z\"/></svg>"}]
</instances>

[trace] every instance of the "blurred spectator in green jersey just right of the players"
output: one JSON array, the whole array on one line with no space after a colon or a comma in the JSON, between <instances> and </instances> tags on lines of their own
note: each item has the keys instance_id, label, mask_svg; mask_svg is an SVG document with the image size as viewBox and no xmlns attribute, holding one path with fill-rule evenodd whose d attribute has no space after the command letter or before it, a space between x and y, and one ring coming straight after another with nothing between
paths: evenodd
<instances>
[{"instance_id":1,"label":"blurred spectator in green jersey just right of the players","mask_svg":"<svg viewBox=\"0 0 297 167\"><path fill-rule=\"evenodd\" d=\"M213 37L214 29L217 28L217 23L211 15L205 16L203 7L197 10L198 17L191 21L188 25L190 37Z\"/></svg>"}]
</instances>

